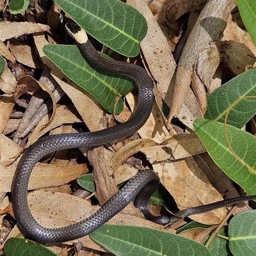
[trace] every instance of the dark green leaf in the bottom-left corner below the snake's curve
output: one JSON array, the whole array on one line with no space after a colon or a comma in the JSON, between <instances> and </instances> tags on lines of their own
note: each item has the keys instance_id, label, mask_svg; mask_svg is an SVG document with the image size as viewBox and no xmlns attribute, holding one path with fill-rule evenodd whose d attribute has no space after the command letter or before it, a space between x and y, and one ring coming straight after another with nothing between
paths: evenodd
<instances>
[{"instance_id":1,"label":"dark green leaf in the bottom-left corner below the snake's curve","mask_svg":"<svg viewBox=\"0 0 256 256\"><path fill-rule=\"evenodd\" d=\"M21 238L10 238L4 244L5 256L57 256L42 245Z\"/></svg>"}]
</instances>

